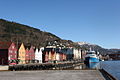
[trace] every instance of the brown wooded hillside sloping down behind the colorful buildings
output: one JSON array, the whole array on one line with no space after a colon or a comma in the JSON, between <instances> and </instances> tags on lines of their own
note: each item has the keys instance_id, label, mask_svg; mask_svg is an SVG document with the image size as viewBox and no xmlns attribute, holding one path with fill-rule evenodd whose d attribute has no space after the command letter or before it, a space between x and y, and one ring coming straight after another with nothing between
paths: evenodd
<instances>
[{"instance_id":1,"label":"brown wooded hillside sloping down behind the colorful buildings","mask_svg":"<svg viewBox=\"0 0 120 80\"><path fill-rule=\"evenodd\" d=\"M46 46L48 42L57 41L65 46L73 46L73 42L70 40L62 40L52 33L4 19L0 19L0 41L23 42L27 46L33 45L37 47Z\"/></svg>"}]
</instances>

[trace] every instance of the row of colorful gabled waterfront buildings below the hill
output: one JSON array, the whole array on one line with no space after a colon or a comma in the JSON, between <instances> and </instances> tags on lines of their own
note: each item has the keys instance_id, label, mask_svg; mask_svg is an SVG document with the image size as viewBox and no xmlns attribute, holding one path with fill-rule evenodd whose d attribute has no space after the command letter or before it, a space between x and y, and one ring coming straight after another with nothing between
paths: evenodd
<instances>
[{"instance_id":1,"label":"row of colorful gabled waterfront buildings below the hill","mask_svg":"<svg viewBox=\"0 0 120 80\"><path fill-rule=\"evenodd\" d=\"M0 42L0 65L46 63L54 61L78 60L82 50L75 48L36 48L16 45L13 42Z\"/></svg>"}]
</instances>

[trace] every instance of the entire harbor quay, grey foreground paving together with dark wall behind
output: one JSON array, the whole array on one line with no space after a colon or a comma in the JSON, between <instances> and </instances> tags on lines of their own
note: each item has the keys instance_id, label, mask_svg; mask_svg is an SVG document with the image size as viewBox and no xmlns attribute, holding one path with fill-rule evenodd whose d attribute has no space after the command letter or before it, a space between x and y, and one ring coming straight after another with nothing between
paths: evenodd
<instances>
[{"instance_id":1,"label":"entire harbor quay, grey foreground paving together with dark wall behind","mask_svg":"<svg viewBox=\"0 0 120 80\"><path fill-rule=\"evenodd\" d=\"M27 78L28 77L28 78ZM62 78L61 78L62 77ZM10 79L9 79L10 78ZM89 69L84 63L25 64L0 66L0 80L116 80L104 69Z\"/></svg>"}]
</instances>

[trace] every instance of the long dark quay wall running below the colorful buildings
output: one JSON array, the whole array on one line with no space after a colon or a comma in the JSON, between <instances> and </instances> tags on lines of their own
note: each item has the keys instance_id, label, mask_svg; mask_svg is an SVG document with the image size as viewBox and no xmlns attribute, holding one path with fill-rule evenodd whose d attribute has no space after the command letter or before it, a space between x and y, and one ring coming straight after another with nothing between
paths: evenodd
<instances>
[{"instance_id":1,"label":"long dark quay wall running below the colorful buildings","mask_svg":"<svg viewBox=\"0 0 120 80\"><path fill-rule=\"evenodd\" d=\"M42 63L42 64L21 64L9 66L10 71L22 70L64 70L73 69L75 66L83 65L82 62L64 62L64 63Z\"/></svg>"}]
</instances>

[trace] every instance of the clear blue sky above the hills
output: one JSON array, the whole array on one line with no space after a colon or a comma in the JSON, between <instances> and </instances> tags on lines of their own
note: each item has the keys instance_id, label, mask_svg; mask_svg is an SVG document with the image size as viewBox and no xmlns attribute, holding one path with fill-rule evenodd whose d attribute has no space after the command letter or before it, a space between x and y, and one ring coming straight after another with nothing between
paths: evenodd
<instances>
[{"instance_id":1,"label":"clear blue sky above the hills","mask_svg":"<svg viewBox=\"0 0 120 80\"><path fill-rule=\"evenodd\" d=\"M62 39L120 48L120 0L0 0L0 18Z\"/></svg>"}]
</instances>

